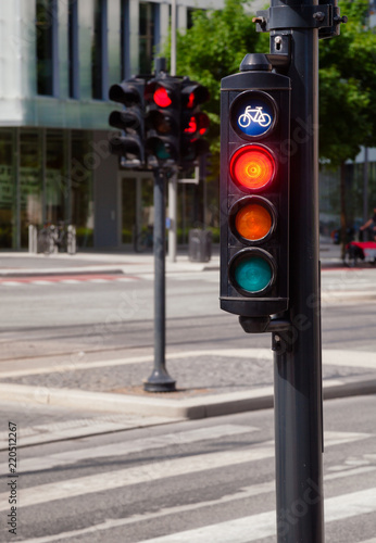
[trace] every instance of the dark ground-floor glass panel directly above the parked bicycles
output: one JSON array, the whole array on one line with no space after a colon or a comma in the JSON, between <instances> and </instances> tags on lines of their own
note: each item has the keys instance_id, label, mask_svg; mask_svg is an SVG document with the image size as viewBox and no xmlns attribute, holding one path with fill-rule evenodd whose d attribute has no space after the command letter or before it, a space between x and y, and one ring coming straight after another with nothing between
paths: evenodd
<instances>
[{"instance_id":1,"label":"dark ground-floor glass panel directly above the parked bicycles","mask_svg":"<svg viewBox=\"0 0 376 543\"><path fill-rule=\"evenodd\" d=\"M58 224L65 217L65 201L68 190L64 175L63 132L48 130L46 138L46 220Z\"/></svg>"}]
</instances>

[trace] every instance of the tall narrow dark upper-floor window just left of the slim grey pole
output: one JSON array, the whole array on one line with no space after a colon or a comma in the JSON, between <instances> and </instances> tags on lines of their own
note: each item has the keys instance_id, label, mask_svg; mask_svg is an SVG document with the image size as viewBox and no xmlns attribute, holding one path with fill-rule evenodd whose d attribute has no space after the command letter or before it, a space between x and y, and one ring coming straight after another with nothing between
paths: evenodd
<instances>
[{"instance_id":1,"label":"tall narrow dark upper-floor window just left of the slim grey pole","mask_svg":"<svg viewBox=\"0 0 376 543\"><path fill-rule=\"evenodd\" d=\"M140 2L139 9L139 67L141 74L151 74L155 45L155 4Z\"/></svg>"}]
</instances>

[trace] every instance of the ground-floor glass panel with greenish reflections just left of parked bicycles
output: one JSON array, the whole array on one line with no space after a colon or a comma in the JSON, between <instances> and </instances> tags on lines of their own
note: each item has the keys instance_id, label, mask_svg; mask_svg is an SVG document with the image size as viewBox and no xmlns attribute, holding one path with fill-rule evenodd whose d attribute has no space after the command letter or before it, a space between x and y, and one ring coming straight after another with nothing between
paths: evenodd
<instances>
[{"instance_id":1,"label":"ground-floor glass panel with greenish reflections just left of parked bicycles","mask_svg":"<svg viewBox=\"0 0 376 543\"><path fill-rule=\"evenodd\" d=\"M21 247L28 244L28 225L42 223L40 134L20 134Z\"/></svg>"}]
</instances>

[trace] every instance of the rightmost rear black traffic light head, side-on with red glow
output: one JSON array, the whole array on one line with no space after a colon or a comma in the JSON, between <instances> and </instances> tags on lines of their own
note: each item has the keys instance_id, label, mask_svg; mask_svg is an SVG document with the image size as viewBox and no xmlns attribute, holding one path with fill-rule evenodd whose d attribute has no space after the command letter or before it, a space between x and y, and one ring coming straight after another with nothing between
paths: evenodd
<instances>
[{"instance_id":1,"label":"rightmost rear black traffic light head, side-on with red glow","mask_svg":"<svg viewBox=\"0 0 376 543\"><path fill-rule=\"evenodd\" d=\"M191 167L200 154L209 152L209 143L202 138L208 131L210 121L200 105L208 102L209 90L197 81L185 77L181 81L180 116L180 165Z\"/></svg>"}]
</instances>

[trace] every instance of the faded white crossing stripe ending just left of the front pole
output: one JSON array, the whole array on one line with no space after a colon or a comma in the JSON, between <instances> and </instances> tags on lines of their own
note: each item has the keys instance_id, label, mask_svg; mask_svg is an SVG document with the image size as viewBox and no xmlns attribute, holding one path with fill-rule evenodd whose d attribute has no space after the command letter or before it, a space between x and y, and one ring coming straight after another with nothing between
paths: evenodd
<instances>
[{"instance_id":1,"label":"faded white crossing stripe ending just left of the front pole","mask_svg":"<svg viewBox=\"0 0 376 543\"><path fill-rule=\"evenodd\" d=\"M210 428L199 428L184 432L166 433L155 438L143 438L124 443L103 445L90 449L78 449L65 453L57 453L38 458L27 458L22 462L22 471L39 471L40 469L51 469L57 466L66 466L88 458L101 458L109 456L124 456L130 453L139 453L151 449L162 449L170 445L176 446L196 443L198 441L215 440L227 435L240 435L254 432L258 428L236 425L221 425Z\"/></svg>"}]
</instances>

